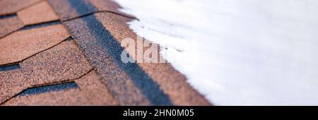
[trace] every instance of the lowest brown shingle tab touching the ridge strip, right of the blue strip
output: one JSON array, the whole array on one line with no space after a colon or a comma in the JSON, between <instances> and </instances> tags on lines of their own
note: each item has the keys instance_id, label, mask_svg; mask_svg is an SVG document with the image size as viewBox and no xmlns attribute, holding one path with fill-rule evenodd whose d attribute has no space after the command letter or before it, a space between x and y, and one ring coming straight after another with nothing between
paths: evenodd
<instances>
[{"instance_id":1,"label":"lowest brown shingle tab touching the ridge strip, right of the blue strip","mask_svg":"<svg viewBox=\"0 0 318 120\"><path fill-rule=\"evenodd\" d=\"M92 105L117 105L117 101L95 71L75 80Z\"/></svg>"}]
</instances>

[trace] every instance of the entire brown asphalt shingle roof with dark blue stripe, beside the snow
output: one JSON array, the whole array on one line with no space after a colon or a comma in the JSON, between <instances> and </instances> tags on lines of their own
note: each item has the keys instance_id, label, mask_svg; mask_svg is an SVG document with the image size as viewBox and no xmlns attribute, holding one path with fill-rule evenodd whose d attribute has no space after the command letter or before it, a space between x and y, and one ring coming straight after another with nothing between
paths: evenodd
<instances>
[{"instance_id":1,"label":"entire brown asphalt shingle roof with dark blue stripe, beside the snow","mask_svg":"<svg viewBox=\"0 0 318 120\"><path fill-rule=\"evenodd\" d=\"M113 1L1 2L20 4L0 8L2 105L211 105L170 64L121 61L137 35Z\"/></svg>"}]
</instances>

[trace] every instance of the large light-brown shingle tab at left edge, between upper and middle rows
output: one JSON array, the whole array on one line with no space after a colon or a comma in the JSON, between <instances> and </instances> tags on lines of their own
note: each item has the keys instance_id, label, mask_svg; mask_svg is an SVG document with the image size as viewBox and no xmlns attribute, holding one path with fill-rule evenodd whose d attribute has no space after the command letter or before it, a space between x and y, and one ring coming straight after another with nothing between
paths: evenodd
<instances>
[{"instance_id":1,"label":"large light-brown shingle tab at left edge, between upper and middle rows","mask_svg":"<svg viewBox=\"0 0 318 120\"><path fill-rule=\"evenodd\" d=\"M66 40L69 32L63 25L13 32L0 40L0 65L11 64Z\"/></svg>"}]
</instances>

